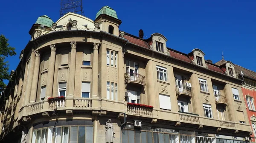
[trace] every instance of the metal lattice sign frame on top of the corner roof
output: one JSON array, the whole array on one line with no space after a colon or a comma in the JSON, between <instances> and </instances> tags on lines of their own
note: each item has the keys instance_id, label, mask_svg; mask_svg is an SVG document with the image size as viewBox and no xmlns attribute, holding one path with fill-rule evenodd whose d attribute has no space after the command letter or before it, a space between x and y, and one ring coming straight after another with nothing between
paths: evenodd
<instances>
[{"instance_id":1,"label":"metal lattice sign frame on top of the corner roof","mask_svg":"<svg viewBox=\"0 0 256 143\"><path fill-rule=\"evenodd\" d=\"M61 17L68 12L84 15L82 0L61 0Z\"/></svg>"}]
</instances>

